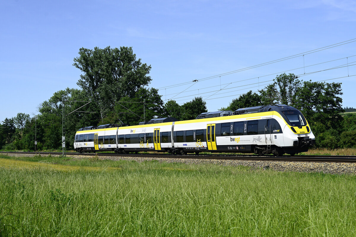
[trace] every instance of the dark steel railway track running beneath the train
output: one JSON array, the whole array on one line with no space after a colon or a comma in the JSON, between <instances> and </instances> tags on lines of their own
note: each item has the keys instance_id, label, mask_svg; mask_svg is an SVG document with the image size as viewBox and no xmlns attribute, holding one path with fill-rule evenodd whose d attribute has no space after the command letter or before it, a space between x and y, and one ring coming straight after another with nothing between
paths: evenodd
<instances>
[{"instance_id":1,"label":"dark steel railway track running beneath the train","mask_svg":"<svg viewBox=\"0 0 356 237\"><path fill-rule=\"evenodd\" d=\"M62 155L62 152L6 152L1 151L0 153L11 153L11 154L41 154L41 155ZM172 155L167 153L130 153L130 154L116 154L116 153L77 153L77 152L67 152L66 155L93 155L98 156L121 156L121 157L139 157L139 158L180 158L180 159L206 159L206 160L258 160L258 161L302 161L302 162L338 162L338 163L356 163L356 156L331 156L331 155L283 155L280 157L266 155L232 155L232 154L209 154L209 155Z\"/></svg>"}]
</instances>

